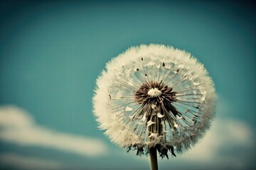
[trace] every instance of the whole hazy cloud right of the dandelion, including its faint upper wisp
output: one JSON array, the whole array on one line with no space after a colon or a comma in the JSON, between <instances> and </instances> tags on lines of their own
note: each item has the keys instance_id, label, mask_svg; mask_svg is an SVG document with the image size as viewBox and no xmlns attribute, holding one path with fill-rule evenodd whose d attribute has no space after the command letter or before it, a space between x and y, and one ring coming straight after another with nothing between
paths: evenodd
<instances>
[{"instance_id":1,"label":"whole hazy cloud right of the dandelion, including its faint upper wisp","mask_svg":"<svg viewBox=\"0 0 256 170\"><path fill-rule=\"evenodd\" d=\"M228 101L218 95L217 118L206 136L178 162L208 165L207 169L252 169L255 157L255 133L245 121L227 117L235 113Z\"/></svg>"}]
</instances>

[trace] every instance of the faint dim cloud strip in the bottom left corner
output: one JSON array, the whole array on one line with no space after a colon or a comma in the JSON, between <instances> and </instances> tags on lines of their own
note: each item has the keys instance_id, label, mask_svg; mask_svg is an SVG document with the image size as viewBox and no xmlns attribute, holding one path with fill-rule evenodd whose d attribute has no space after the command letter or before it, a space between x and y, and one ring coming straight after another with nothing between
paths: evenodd
<instances>
[{"instance_id":1,"label":"faint dim cloud strip in the bottom left corner","mask_svg":"<svg viewBox=\"0 0 256 170\"><path fill-rule=\"evenodd\" d=\"M63 169L63 167L58 162L53 162L46 159L37 159L34 157L26 157L23 155L4 153L0 155L1 168L6 167L7 169L16 168L19 169Z\"/></svg>"}]
</instances>

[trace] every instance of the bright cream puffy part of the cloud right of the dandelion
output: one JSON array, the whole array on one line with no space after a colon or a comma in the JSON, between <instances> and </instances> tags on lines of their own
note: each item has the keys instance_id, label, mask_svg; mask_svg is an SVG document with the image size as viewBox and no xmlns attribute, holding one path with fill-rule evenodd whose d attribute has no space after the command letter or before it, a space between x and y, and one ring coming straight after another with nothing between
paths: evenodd
<instances>
[{"instance_id":1,"label":"bright cream puffy part of the cloud right of the dandelion","mask_svg":"<svg viewBox=\"0 0 256 170\"><path fill-rule=\"evenodd\" d=\"M223 159L219 155L220 149L249 148L253 145L253 138L252 130L245 123L232 119L217 119L203 140L183 154L181 159L199 162ZM238 161L240 162L241 159Z\"/></svg>"}]
</instances>

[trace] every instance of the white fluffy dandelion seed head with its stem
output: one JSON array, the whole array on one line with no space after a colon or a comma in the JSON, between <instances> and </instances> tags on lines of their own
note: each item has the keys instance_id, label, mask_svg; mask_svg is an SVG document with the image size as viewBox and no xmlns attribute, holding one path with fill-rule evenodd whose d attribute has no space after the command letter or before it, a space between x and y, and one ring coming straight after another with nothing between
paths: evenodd
<instances>
[{"instance_id":1,"label":"white fluffy dandelion seed head with its stem","mask_svg":"<svg viewBox=\"0 0 256 170\"><path fill-rule=\"evenodd\" d=\"M185 152L210 128L215 89L188 52L165 45L131 47L106 64L93 97L99 128L115 144L150 154Z\"/></svg>"}]
</instances>

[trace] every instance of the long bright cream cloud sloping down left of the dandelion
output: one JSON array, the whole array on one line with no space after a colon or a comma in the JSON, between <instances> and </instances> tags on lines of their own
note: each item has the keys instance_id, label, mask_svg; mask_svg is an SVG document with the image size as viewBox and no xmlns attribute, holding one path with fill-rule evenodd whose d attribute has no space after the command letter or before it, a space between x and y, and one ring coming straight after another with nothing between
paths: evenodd
<instances>
[{"instance_id":1,"label":"long bright cream cloud sloping down left of the dandelion","mask_svg":"<svg viewBox=\"0 0 256 170\"><path fill-rule=\"evenodd\" d=\"M31 115L15 106L0 107L0 128L0 140L17 145L49 147L86 157L107 153L107 145L101 140L36 125Z\"/></svg>"}]
</instances>

